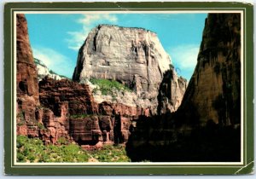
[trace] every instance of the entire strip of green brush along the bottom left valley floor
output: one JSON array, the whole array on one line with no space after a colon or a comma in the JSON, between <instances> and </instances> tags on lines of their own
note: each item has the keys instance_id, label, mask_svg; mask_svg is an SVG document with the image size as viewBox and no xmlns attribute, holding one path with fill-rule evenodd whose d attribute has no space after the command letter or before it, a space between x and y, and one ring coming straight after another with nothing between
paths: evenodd
<instances>
[{"instance_id":1,"label":"entire strip of green brush along the bottom left valley floor","mask_svg":"<svg viewBox=\"0 0 256 179\"><path fill-rule=\"evenodd\" d=\"M38 138L17 136L17 162L131 162L123 145L105 145L92 151L85 151L79 145L59 138L58 145L44 145Z\"/></svg>"}]
</instances>

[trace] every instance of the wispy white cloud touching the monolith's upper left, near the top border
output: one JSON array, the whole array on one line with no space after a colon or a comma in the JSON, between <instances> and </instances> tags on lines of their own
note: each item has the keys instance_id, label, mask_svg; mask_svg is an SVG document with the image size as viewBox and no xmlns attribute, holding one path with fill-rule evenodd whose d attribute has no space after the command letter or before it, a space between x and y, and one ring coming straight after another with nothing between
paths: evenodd
<instances>
[{"instance_id":1,"label":"wispy white cloud touching the monolith's upper left, near the top border","mask_svg":"<svg viewBox=\"0 0 256 179\"><path fill-rule=\"evenodd\" d=\"M92 28L101 23L115 23L118 18L113 14L82 14L82 17L77 20L82 25L82 29L77 32L67 32L67 45L69 49L78 51L84 43L85 38Z\"/></svg>"}]
</instances>

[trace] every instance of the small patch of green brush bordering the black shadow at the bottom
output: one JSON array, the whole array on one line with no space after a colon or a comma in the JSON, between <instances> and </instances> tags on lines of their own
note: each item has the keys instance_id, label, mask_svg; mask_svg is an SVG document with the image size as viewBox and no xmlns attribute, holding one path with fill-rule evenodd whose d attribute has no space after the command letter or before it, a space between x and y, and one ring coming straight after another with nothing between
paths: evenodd
<instances>
[{"instance_id":1,"label":"small patch of green brush bordering the black shadow at the bottom","mask_svg":"<svg viewBox=\"0 0 256 179\"><path fill-rule=\"evenodd\" d=\"M106 145L101 149L90 151L90 155L99 162L131 162L123 145Z\"/></svg>"}]
</instances>

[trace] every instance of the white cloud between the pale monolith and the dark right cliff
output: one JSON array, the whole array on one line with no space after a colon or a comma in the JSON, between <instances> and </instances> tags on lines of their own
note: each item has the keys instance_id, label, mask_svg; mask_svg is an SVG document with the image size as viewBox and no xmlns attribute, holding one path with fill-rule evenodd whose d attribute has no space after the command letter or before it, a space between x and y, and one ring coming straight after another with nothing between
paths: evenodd
<instances>
[{"instance_id":1,"label":"white cloud between the pale monolith and the dark right cliff","mask_svg":"<svg viewBox=\"0 0 256 179\"><path fill-rule=\"evenodd\" d=\"M197 44L180 45L169 50L169 54L172 56L172 62L177 64L181 69L194 69L198 52L199 45Z\"/></svg>"}]
</instances>

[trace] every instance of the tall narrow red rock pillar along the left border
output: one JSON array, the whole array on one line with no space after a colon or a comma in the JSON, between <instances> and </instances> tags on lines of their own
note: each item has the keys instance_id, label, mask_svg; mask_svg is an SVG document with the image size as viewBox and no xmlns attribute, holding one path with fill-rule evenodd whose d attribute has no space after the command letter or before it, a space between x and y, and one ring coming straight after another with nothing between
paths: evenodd
<instances>
[{"instance_id":1,"label":"tall narrow red rock pillar along the left border","mask_svg":"<svg viewBox=\"0 0 256 179\"><path fill-rule=\"evenodd\" d=\"M39 106L37 70L33 62L32 49L27 33L24 14L16 16L16 92L17 92L17 129L26 124L26 135L38 136L36 111Z\"/></svg>"}]
</instances>

